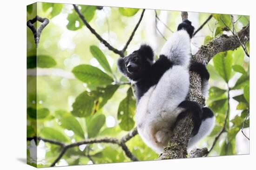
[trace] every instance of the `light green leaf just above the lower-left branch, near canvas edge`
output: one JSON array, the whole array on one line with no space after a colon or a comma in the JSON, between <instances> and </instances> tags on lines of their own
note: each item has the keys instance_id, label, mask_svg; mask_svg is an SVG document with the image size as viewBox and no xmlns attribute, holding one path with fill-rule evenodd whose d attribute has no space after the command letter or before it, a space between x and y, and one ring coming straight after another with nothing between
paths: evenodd
<instances>
[{"instance_id":1,"label":"light green leaf just above the lower-left branch, near canvas edge","mask_svg":"<svg viewBox=\"0 0 256 170\"><path fill-rule=\"evenodd\" d=\"M46 139L57 140L61 142L67 142L68 138L65 134L52 127L44 127L41 129L40 134Z\"/></svg>"}]
</instances>

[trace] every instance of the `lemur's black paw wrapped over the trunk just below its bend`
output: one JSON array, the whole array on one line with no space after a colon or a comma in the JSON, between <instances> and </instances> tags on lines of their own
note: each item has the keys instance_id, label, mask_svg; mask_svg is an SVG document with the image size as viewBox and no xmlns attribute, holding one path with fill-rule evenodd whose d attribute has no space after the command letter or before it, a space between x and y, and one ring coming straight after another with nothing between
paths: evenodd
<instances>
[{"instance_id":1,"label":"lemur's black paw wrapped over the trunk just below its bend","mask_svg":"<svg viewBox=\"0 0 256 170\"><path fill-rule=\"evenodd\" d=\"M209 80L209 72L206 69L206 66L202 63L193 62L190 64L189 71L195 71L197 74L201 76L202 81Z\"/></svg>"}]
</instances>

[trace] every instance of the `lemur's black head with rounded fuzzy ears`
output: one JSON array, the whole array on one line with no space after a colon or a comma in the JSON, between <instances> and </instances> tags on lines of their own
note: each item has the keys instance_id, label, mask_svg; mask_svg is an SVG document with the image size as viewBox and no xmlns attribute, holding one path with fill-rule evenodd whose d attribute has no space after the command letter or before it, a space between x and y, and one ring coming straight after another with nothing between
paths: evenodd
<instances>
[{"instance_id":1,"label":"lemur's black head with rounded fuzzy ears","mask_svg":"<svg viewBox=\"0 0 256 170\"><path fill-rule=\"evenodd\" d=\"M141 45L139 50L118 59L120 71L133 81L140 80L153 63L154 52L149 45Z\"/></svg>"}]
</instances>

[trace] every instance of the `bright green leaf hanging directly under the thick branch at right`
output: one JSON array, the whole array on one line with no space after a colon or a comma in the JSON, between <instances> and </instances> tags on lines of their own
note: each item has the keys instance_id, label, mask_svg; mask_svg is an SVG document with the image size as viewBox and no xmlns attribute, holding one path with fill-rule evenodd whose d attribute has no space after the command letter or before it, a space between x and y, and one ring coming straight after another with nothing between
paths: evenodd
<instances>
[{"instance_id":1,"label":"bright green leaf hanging directly under the thick branch at right","mask_svg":"<svg viewBox=\"0 0 256 170\"><path fill-rule=\"evenodd\" d=\"M231 78L231 69L232 69L232 56L227 55L227 52L220 52L213 57L214 67L219 75L229 82Z\"/></svg>"}]
</instances>

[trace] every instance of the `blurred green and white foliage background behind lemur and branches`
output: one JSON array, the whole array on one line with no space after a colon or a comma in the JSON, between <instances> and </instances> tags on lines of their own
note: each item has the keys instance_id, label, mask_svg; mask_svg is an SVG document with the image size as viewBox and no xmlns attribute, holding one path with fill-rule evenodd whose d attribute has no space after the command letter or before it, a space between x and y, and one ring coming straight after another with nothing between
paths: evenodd
<instances>
[{"instance_id":1,"label":"blurred green and white foliage background behind lemur and branches","mask_svg":"<svg viewBox=\"0 0 256 170\"><path fill-rule=\"evenodd\" d=\"M126 44L142 12L142 9L118 7L79 6L79 9L96 32L119 50ZM119 55L100 43L71 4L27 6L27 20L36 14L50 22L42 31L37 49L33 33L27 27L27 137L40 136L66 144L91 138L121 139L136 123L135 98L128 93L128 80L117 69ZM197 29L209 15L189 13L189 20ZM236 31L248 25L249 16L233 16ZM192 38L192 54L219 34L232 35L225 29L232 27L231 19L231 15L213 14ZM157 58L165 39L176 31L181 21L180 12L146 9L125 54L147 43ZM40 22L36 25L39 27ZM246 47L249 51L249 43ZM36 56L37 66L30 65ZM208 156L248 154L249 57L239 47L217 54L207 68L210 73L207 106L216 114L216 125L197 147L212 146L227 116L224 132ZM121 112L122 109L126 111ZM27 141L27 163L48 167L61 148L42 140L37 142ZM158 157L139 135L127 145L140 161ZM101 143L68 149L56 166L129 161L118 145Z\"/></svg>"}]
</instances>

